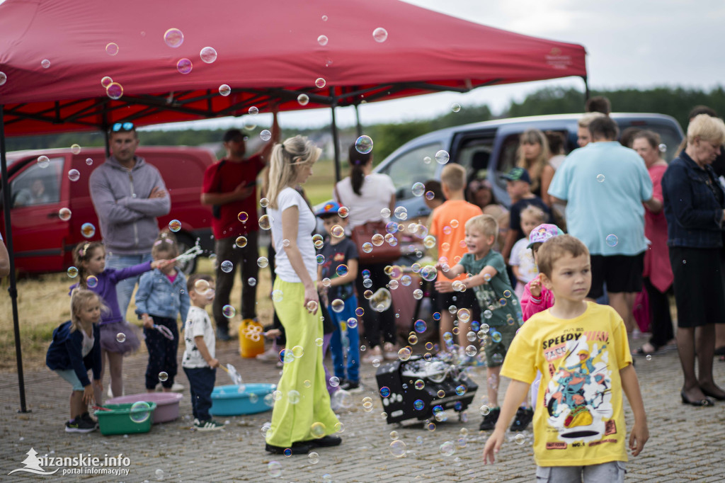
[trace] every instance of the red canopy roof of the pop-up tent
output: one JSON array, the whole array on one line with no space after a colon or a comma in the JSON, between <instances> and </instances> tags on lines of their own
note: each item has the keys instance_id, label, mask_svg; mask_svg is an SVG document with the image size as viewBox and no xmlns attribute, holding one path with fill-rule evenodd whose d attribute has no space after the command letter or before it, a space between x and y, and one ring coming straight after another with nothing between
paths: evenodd
<instances>
[{"instance_id":1,"label":"red canopy roof of the pop-up tent","mask_svg":"<svg viewBox=\"0 0 725 483\"><path fill-rule=\"evenodd\" d=\"M183 32L178 48L164 41L170 28ZM386 29L386 41L373 38L376 28ZM107 53L109 43L117 54ZM205 46L217 51L215 62L202 62ZM281 110L298 110L303 92L310 108L586 77L585 55L576 44L397 0L0 4L0 72L7 75L0 104L8 135L241 115L275 100ZM191 60L190 73L178 72L180 59ZM123 86L123 97L109 99L104 76ZM317 78L326 80L324 88L315 86ZM231 95L220 96L222 84Z\"/></svg>"}]
</instances>

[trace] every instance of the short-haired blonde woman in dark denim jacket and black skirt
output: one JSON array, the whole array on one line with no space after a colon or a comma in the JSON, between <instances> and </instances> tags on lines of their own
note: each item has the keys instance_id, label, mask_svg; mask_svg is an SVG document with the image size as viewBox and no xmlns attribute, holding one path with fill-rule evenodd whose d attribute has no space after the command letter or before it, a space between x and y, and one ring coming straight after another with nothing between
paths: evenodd
<instances>
[{"instance_id":1,"label":"short-haired blonde woman in dark denim jacket and black skirt","mask_svg":"<svg viewBox=\"0 0 725 483\"><path fill-rule=\"evenodd\" d=\"M715 324L725 322L725 192L711 163L725 142L725 123L702 114L687 127L687 146L662 178L667 244L677 304L682 402L711 406L725 391L713 380ZM697 358L697 374L695 373Z\"/></svg>"}]
</instances>

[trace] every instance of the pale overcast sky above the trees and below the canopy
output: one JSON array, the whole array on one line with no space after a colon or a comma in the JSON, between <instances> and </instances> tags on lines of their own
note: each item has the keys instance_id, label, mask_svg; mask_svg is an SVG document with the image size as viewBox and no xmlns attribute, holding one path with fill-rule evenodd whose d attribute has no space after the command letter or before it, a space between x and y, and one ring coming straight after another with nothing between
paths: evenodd
<instances>
[{"instance_id":1,"label":"pale overcast sky above the trees and below the canopy","mask_svg":"<svg viewBox=\"0 0 725 483\"><path fill-rule=\"evenodd\" d=\"M713 88L725 79L725 1L700 0L408 0L408 3L471 22L530 36L581 44L587 49L592 88L684 86ZM394 30L394 26L386 27ZM489 104L500 113L511 99L545 86L572 86L579 78L482 87L468 94L428 94L360 107L365 124L444 114L450 104ZM616 108L616 106L615 106ZM338 125L352 125L352 107L338 108ZM270 117L260 115L260 125ZM330 110L283 112L283 128L330 123ZM176 126L231 127L242 120L208 120ZM168 127L167 125L164 127Z\"/></svg>"}]
</instances>

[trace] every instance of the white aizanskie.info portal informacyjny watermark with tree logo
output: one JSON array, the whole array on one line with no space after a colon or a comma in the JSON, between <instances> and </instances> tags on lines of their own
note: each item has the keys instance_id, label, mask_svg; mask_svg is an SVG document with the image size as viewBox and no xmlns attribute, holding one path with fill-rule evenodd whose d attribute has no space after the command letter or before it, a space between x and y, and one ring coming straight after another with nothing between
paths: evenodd
<instances>
[{"instance_id":1,"label":"white aizanskie.info portal informacyjny watermark with tree logo","mask_svg":"<svg viewBox=\"0 0 725 483\"><path fill-rule=\"evenodd\" d=\"M32 447L28 453L28 458L22 461L25 468L15 468L8 474L13 473L31 473L39 475L60 474L66 475L111 475L111 476L128 476L128 466L130 466L130 458L123 455L117 456L103 455L103 457L92 456L90 453L84 455L78 453L77 456L49 456L44 455L38 457L38 452ZM54 467L53 471L43 469L43 467Z\"/></svg>"}]
</instances>

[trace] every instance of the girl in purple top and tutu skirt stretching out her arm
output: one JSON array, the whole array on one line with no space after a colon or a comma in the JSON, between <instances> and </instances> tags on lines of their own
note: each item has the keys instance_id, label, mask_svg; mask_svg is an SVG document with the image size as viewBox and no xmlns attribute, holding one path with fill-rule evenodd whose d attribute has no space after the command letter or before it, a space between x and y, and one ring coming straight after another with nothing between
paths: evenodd
<instances>
[{"instance_id":1,"label":"girl in purple top and tutu skirt stretching out her arm","mask_svg":"<svg viewBox=\"0 0 725 483\"><path fill-rule=\"evenodd\" d=\"M109 308L99 323L101 379L105 371L104 361L108 360L112 395L121 396L123 395L123 356L138 349L141 342L138 341L133 326L125 321L125 314L122 314L118 307L116 284L125 278L162 267L166 265L167 260L154 260L128 268L106 268L106 249L103 244L100 241L85 241L73 250L73 261L77 268L78 284L73 284L70 289L75 289L77 286L90 289L99 294ZM101 401L96 402L101 403Z\"/></svg>"}]
</instances>

